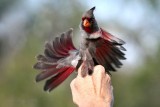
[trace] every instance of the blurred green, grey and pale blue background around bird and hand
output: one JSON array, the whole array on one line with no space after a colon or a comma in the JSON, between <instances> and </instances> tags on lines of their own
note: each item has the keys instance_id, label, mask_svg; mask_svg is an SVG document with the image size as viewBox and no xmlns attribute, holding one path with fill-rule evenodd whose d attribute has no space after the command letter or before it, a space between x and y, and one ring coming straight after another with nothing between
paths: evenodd
<instances>
[{"instance_id":1,"label":"blurred green, grey and pale blue background around bird and hand","mask_svg":"<svg viewBox=\"0 0 160 107\"><path fill-rule=\"evenodd\" d=\"M127 60L112 73L114 107L160 107L160 0L0 0L0 107L76 107L73 73L51 93L32 69L44 42L74 28L96 6L99 25L126 41Z\"/></svg>"}]
</instances>

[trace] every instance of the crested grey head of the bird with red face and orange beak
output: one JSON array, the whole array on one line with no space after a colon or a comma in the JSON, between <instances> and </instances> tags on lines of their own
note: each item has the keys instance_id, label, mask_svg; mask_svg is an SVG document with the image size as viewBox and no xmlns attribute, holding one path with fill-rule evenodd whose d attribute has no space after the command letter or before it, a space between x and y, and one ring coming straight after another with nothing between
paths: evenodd
<instances>
[{"instance_id":1,"label":"crested grey head of the bird with red face and orange beak","mask_svg":"<svg viewBox=\"0 0 160 107\"><path fill-rule=\"evenodd\" d=\"M92 7L82 15L81 27L86 33L94 33L98 31L98 25L94 17L95 7Z\"/></svg>"}]
</instances>

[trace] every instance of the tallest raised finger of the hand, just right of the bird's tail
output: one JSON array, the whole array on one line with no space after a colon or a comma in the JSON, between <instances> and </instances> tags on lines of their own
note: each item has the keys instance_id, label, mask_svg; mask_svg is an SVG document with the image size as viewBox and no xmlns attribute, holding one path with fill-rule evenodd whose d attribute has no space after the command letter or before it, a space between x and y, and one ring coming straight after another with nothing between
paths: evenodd
<instances>
[{"instance_id":1,"label":"tallest raised finger of the hand, just right of the bird's tail","mask_svg":"<svg viewBox=\"0 0 160 107\"><path fill-rule=\"evenodd\" d=\"M92 74L92 79L94 83L94 87L96 90L96 94L100 95L101 87L102 87L102 80L105 79L105 69L101 65L97 65L94 67L94 72Z\"/></svg>"}]
</instances>

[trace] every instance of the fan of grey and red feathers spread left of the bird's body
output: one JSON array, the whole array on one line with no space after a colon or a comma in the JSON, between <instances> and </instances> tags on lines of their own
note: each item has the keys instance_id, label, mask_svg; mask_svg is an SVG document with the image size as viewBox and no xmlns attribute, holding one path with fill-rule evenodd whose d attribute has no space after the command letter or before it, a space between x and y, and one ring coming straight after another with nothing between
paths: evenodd
<instances>
[{"instance_id":1,"label":"fan of grey and red feathers spread left of the bird's body","mask_svg":"<svg viewBox=\"0 0 160 107\"><path fill-rule=\"evenodd\" d=\"M54 89L75 70L72 62L78 60L78 51L72 43L72 32L70 29L51 43L47 42L44 55L37 56L34 68L41 72L36 76L36 81L49 78L44 86L45 91Z\"/></svg>"}]
</instances>

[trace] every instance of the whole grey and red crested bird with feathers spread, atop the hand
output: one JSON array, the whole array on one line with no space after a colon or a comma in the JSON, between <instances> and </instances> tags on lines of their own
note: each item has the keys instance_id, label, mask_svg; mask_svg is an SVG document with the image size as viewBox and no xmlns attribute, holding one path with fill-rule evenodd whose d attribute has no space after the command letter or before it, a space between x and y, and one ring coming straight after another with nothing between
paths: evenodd
<instances>
[{"instance_id":1,"label":"whole grey and red crested bird with feathers spread, atop the hand","mask_svg":"<svg viewBox=\"0 0 160 107\"><path fill-rule=\"evenodd\" d=\"M70 74L81 67L81 75L92 75L96 65L106 73L117 71L125 60L125 42L98 26L94 16L95 6L87 10L80 21L81 42L76 48L72 41L73 28L45 43L44 54L37 55L33 68L39 70L36 82L46 80L44 91L52 91ZM98 72L98 71L97 71Z\"/></svg>"}]
</instances>

